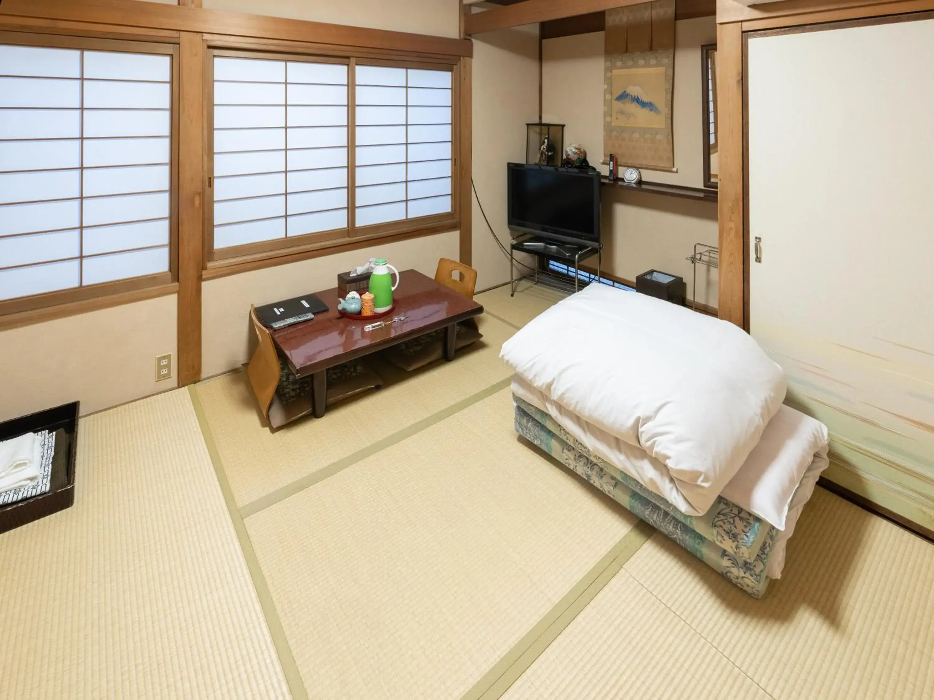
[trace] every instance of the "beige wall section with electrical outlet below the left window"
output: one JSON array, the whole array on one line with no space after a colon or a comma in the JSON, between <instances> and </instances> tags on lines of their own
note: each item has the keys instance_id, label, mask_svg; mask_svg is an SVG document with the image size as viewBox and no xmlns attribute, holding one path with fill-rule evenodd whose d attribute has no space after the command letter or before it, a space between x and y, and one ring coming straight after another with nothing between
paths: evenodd
<instances>
[{"instance_id":1,"label":"beige wall section with electrical outlet below the left window","mask_svg":"<svg viewBox=\"0 0 934 700\"><path fill-rule=\"evenodd\" d=\"M70 401L93 413L176 386L177 297L0 333L0 421ZM156 383L156 357L173 378Z\"/></svg>"}]
</instances>

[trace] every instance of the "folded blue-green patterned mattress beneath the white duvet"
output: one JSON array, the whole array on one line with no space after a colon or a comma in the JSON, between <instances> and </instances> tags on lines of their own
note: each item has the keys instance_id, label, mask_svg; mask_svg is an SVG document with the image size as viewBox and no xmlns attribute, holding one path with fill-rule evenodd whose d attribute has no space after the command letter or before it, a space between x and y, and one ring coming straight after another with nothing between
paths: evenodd
<instances>
[{"instance_id":1,"label":"folded blue-green patterned mattress beneath the white duvet","mask_svg":"<svg viewBox=\"0 0 934 700\"><path fill-rule=\"evenodd\" d=\"M770 579L766 576L778 531L755 515L718 498L702 516L675 509L641 483L592 455L548 413L517 396L516 431L587 479L635 515L664 533L707 566L722 574L749 595L760 597Z\"/></svg>"}]
</instances>

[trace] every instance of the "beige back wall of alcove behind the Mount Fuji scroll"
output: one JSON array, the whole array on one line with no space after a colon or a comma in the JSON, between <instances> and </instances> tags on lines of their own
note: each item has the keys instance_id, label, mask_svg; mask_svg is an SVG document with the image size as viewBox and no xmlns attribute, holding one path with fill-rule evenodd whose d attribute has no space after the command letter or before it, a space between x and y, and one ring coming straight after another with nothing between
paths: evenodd
<instances>
[{"instance_id":1,"label":"beige back wall of alcove behind the Mount Fuji scroll","mask_svg":"<svg viewBox=\"0 0 934 700\"><path fill-rule=\"evenodd\" d=\"M713 17L675 22L674 165L676 173L644 170L645 180L703 187L701 45L716 41ZM587 148L601 168L603 33L547 39L543 47L545 121L567 125L565 144ZM694 203L622 189L603 189L603 269L624 279L653 268L679 274L691 295L695 243L717 245L715 203ZM716 272L698 268L698 301L716 305Z\"/></svg>"}]
</instances>

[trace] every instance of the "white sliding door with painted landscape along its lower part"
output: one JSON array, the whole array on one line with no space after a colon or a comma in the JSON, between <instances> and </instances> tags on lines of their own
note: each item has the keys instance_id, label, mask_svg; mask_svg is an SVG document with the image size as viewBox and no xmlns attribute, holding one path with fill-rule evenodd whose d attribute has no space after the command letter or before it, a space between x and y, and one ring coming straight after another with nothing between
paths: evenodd
<instances>
[{"instance_id":1,"label":"white sliding door with painted landscape along its lower part","mask_svg":"<svg viewBox=\"0 0 934 700\"><path fill-rule=\"evenodd\" d=\"M749 330L828 479L934 530L934 18L747 33Z\"/></svg>"}]
</instances>

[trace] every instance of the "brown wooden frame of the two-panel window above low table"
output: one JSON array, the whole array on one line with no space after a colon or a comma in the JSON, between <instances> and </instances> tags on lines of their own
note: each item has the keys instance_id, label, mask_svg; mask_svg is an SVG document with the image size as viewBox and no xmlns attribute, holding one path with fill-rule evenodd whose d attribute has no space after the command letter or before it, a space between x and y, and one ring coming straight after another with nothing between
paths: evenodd
<instances>
[{"instance_id":1,"label":"brown wooden frame of the two-panel window above low table","mask_svg":"<svg viewBox=\"0 0 934 700\"><path fill-rule=\"evenodd\" d=\"M389 243L405 238L460 230L460 59L402 51L355 49L205 35L205 197L204 278L247 272L338 252L347 246ZM214 249L214 57L347 65L347 227ZM451 73L451 211L357 227L356 215L356 66L449 70ZM288 126L286 127L288 129ZM288 155L288 154L287 154ZM288 168L288 162L287 166ZM288 194L288 193L287 193ZM286 217L288 218L288 212ZM333 249L333 251L331 250Z\"/></svg>"}]
</instances>

